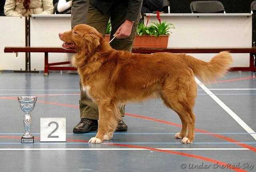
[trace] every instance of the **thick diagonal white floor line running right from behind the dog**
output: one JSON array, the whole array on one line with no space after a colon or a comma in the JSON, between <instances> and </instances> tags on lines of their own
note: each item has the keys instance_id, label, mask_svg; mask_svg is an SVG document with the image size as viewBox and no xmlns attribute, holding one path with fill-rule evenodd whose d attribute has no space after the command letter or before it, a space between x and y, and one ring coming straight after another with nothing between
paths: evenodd
<instances>
[{"instance_id":1,"label":"thick diagonal white floor line running right from behind the dog","mask_svg":"<svg viewBox=\"0 0 256 172\"><path fill-rule=\"evenodd\" d=\"M197 78L196 82L201 83ZM254 130L252 130L236 113L234 113L227 105L225 105L216 95L212 93L204 84L199 84L199 86L214 100L222 109L224 109L241 127L243 127L246 132L251 133L250 135L256 140L256 134Z\"/></svg>"}]
</instances>

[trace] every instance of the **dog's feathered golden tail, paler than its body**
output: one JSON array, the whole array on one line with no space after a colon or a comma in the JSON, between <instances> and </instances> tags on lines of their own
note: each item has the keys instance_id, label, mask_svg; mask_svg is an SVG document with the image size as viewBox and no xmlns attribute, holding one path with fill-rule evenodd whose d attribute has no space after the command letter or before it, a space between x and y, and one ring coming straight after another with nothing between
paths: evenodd
<instances>
[{"instance_id":1,"label":"dog's feathered golden tail, paler than its body","mask_svg":"<svg viewBox=\"0 0 256 172\"><path fill-rule=\"evenodd\" d=\"M222 77L233 62L231 54L227 51L218 53L210 62L196 59L190 55L185 57L188 66L203 83L210 83Z\"/></svg>"}]
</instances>

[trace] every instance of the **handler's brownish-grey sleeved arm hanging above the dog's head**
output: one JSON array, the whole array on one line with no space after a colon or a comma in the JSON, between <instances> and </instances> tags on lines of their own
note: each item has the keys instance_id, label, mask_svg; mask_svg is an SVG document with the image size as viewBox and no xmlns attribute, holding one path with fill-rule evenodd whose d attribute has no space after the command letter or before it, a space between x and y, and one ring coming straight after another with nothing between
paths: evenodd
<instances>
[{"instance_id":1,"label":"handler's brownish-grey sleeved arm hanging above the dog's head","mask_svg":"<svg viewBox=\"0 0 256 172\"><path fill-rule=\"evenodd\" d=\"M86 24L86 13L89 0L72 0L71 28L78 24Z\"/></svg>"}]
</instances>

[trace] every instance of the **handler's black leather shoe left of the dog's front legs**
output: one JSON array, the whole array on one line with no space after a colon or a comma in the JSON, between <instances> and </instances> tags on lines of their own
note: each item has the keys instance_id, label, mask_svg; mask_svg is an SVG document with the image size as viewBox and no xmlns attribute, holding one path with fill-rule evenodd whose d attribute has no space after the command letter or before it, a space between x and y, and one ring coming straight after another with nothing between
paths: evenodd
<instances>
[{"instance_id":1,"label":"handler's black leather shoe left of the dog's front legs","mask_svg":"<svg viewBox=\"0 0 256 172\"><path fill-rule=\"evenodd\" d=\"M81 121L74 127L73 132L76 134L83 134L89 131L98 129L98 121L94 119L82 118Z\"/></svg>"}]
</instances>

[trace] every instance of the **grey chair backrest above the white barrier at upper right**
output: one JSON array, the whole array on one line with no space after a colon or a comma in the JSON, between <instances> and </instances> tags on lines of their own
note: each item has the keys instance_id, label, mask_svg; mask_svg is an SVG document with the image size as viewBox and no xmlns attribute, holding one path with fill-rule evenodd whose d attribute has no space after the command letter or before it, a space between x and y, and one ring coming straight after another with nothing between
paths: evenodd
<instances>
[{"instance_id":1,"label":"grey chair backrest above the white barrier at upper right","mask_svg":"<svg viewBox=\"0 0 256 172\"><path fill-rule=\"evenodd\" d=\"M224 5L217 0L214 1L193 1L190 4L192 13L226 13Z\"/></svg>"}]
</instances>

